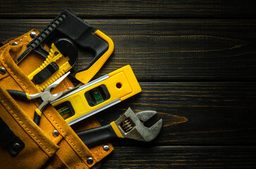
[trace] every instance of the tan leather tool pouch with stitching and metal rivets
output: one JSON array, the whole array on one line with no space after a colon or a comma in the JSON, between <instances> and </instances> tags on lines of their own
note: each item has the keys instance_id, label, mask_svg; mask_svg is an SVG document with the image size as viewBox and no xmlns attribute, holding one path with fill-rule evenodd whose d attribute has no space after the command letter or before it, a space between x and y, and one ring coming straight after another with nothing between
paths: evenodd
<instances>
[{"instance_id":1,"label":"tan leather tool pouch with stitching and metal rivets","mask_svg":"<svg viewBox=\"0 0 256 169\"><path fill-rule=\"evenodd\" d=\"M38 34L37 30L30 32ZM31 52L19 65L15 63L15 59L32 40L30 32L0 48L0 68L5 70L0 73L0 118L24 143L23 149L15 156L0 144L0 168L91 168L113 150L110 143L109 151L104 151L104 145L88 149L75 134L74 130L99 126L95 118L83 120L72 129L55 108L48 104L43 109L40 124L37 126L32 119L39 101L12 98L6 92L6 89L29 94L39 92L27 76L45 58ZM18 42L18 45L12 45L13 42ZM73 87L73 84L66 78L53 92L61 92L68 87ZM8 140L4 136L0 137Z\"/></svg>"}]
</instances>

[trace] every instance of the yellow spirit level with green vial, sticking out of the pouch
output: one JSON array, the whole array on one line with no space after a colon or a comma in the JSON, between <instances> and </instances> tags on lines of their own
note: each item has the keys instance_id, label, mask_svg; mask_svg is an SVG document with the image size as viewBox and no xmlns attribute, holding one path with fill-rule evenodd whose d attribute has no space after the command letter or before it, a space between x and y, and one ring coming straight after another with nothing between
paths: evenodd
<instances>
[{"instance_id":1,"label":"yellow spirit level with green vial, sticking out of the pouch","mask_svg":"<svg viewBox=\"0 0 256 169\"><path fill-rule=\"evenodd\" d=\"M51 102L69 125L141 92L130 65L99 77Z\"/></svg>"}]
</instances>

